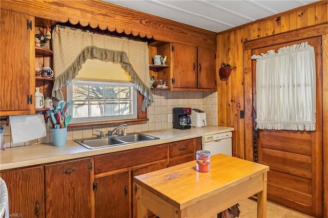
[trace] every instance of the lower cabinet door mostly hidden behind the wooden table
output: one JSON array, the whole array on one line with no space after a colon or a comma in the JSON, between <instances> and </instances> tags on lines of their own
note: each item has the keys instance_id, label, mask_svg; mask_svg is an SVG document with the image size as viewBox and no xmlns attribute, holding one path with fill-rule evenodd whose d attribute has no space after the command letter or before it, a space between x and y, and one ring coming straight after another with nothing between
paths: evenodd
<instances>
[{"instance_id":1,"label":"lower cabinet door mostly hidden behind the wooden table","mask_svg":"<svg viewBox=\"0 0 328 218\"><path fill-rule=\"evenodd\" d=\"M158 163L152 163L144 167L140 167L132 170L132 180L133 177L152 172L158 169L163 169L167 167L167 160L160 161ZM132 182L132 217L137 218L137 187L134 182ZM152 217L154 214L148 211L148 217Z\"/></svg>"}]
</instances>

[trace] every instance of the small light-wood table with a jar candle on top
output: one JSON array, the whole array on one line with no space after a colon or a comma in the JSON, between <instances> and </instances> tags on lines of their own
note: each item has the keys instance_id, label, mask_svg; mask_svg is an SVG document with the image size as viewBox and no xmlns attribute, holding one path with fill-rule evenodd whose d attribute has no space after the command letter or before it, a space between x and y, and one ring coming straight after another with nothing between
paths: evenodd
<instances>
[{"instance_id":1,"label":"small light-wood table with a jar candle on top","mask_svg":"<svg viewBox=\"0 0 328 218\"><path fill-rule=\"evenodd\" d=\"M196 161L134 177L138 217L147 209L160 218L217 217L257 193L257 217L267 217L269 166L218 154L211 171L196 171Z\"/></svg>"}]
</instances>

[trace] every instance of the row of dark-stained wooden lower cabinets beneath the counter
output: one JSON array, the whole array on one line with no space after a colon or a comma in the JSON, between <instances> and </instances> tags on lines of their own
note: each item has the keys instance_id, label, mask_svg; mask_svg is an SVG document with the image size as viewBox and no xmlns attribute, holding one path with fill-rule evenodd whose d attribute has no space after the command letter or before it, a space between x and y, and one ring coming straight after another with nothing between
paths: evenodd
<instances>
[{"instance_id":1,"label":"row of dark-stained wooden lower cabinets beneath the counter","mask_svg":"<svg viewBox=\"0 0 328 218\"><path fill-rule=\"evenodd\" d=\"M9 212L20 217L137 217L133 177L195 160L200 138L5 170ZM149 217L156 217L149 211Z\"/></svg>"}]
</instances>

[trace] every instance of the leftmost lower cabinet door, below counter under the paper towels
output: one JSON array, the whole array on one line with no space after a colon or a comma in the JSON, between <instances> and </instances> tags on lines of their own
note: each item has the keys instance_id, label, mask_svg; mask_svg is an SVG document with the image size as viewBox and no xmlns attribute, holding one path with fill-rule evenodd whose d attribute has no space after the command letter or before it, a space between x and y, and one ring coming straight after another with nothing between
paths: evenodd
<instances>
[{"instance_id":1,"label":"leftmost lower cabinet door, below counter under the paper towels","mask_svg":"<svg viewBox=\"0 0 328 218\"><path fill-rule=\"evenodd\" d=\"M10 214L26 218L45 217L42 166L1 172L0 177L7 184Z\"/></svg>"}]
</instances>

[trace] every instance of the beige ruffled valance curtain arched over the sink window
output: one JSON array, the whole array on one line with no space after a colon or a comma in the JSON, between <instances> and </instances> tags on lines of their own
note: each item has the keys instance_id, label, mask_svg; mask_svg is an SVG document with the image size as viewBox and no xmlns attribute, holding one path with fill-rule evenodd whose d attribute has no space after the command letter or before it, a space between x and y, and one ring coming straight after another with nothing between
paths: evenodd
<instances>
[{"instance_id":1,"label":"beige ruffled valance curtain arched over the sink window","mask_svg":"<svg viewBox=\"0 0 328 218\"><path fill-rule=\"evenodd\" d=\"M78 75L87 59L120 62L131 76L131 82L144 95L141 110L154 102L149 87L149 56L147 42L101 35L76 28L57 25L52 33L53 69L52 96L63 100L61 88ZM113 73L113 72L109 72Z\"/></svg>"}]
</instances>

